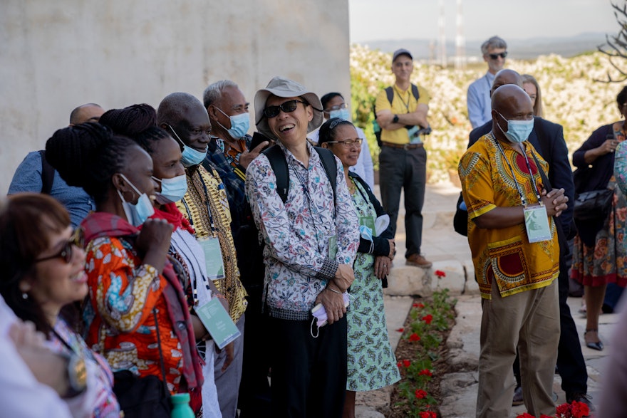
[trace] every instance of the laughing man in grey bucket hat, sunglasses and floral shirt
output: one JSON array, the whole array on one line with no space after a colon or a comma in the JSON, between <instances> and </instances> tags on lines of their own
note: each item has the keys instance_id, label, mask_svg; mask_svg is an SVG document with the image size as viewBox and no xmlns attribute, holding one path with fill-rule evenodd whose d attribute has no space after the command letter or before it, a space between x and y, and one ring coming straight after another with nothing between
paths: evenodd
<instances>
[{"instance_id":1,"label":"laughing man in grey bucket hat, sunglasses and floral shirt","mask_svg":"<svg viewBox=\"0 0 627 418\"><path fill-rule=\"evenodd\" d=\"M268 154L249 165L246 194L266 244L264 306L272 345L274 417L341 417L346 392L346 303L359 244L358 219L342 165L307 142L322 122L315 93L275 77L255 95L257 129L278 139L289 178L284 199ZM336 187L330 176L336 177ZM321 304L321 307L317 305ZM328 325L312 318L326 314Z\"/></svg>"}]
</instances>

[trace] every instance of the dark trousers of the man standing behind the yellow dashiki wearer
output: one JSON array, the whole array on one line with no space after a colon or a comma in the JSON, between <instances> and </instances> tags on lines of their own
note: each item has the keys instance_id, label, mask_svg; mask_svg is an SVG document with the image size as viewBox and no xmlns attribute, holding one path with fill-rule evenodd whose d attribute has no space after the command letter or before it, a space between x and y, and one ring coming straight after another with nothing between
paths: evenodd
<instances>
[{"instance_id":1,"label":"dark trousers of the man standing behind the yellow dashiki wearer","mask_svg":"<svg viewBox=\"0 0 627 418\"><path fill-rule=\"evenodd\" d=\"M571 268L571 250L564 236L559 219L556 219L559 238L559 345L557 347L557 371L561 376L561 389L566 393L587 393L588 372L586 362L581 353L581 343L575 321L571 315L569 305L566 304L569 292L569 270ZM517 385L520 385L520 365L518 356L514 362L514 375Z\"/></svg>"}]
</instances>

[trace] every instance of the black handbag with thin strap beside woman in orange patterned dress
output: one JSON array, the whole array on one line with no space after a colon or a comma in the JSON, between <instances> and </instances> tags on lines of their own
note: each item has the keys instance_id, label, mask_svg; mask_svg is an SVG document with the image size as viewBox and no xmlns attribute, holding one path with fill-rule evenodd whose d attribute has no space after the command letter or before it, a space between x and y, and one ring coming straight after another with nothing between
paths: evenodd
<instances>
[{"instance_id":1,"label":"black handbag with thin strap beside woman in orange patterned dress","mask_svg":"<svg viewBox=\"0 0 627 418\"><path fill-rule=\"evenodd\" d=\"M155 315L155 324L157 324L157 311L153 309L152 314ZM113 373L113 392L118 398L120 409L123 410L125 418L170 418L172 416L170 390L167 390L165 383L165 365L159 334L157 325L159 359L163 380L155 375L139 377L129 370Z\"/></svg>"}]
</instances>

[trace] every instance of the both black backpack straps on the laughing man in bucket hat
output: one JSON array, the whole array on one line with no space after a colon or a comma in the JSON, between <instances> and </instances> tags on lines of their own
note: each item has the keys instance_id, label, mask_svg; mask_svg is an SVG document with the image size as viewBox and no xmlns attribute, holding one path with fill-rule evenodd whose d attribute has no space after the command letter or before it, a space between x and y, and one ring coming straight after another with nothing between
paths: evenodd
<instances>
[{"instance_id":1,"label":"both black backpack straps on the laughing man in bucket hat","mask_svg":"<svg viewBox=\"0 0 627 418\"><path fill-rule=\"evenodd\" d=\"M326 176L328 177L329 182L331 182L331 187L333 187L333 203L335 203L336 188L338 183L338 163L336 162L336 157L333 155L331 150L326 150L322 147L314 147L314 150L316 150L318 155L320 155L320 160L322 162L322 166L324 167L324 171L326 172ZM289 169L287 167L287 160L285 159L283 150L281 150L279 145L272 145L262 152L268 158L272 171L274 171L274 177L276 177L276 192L279 194L279 197L281 197L283 203L285 203L287 201L287 193L289 191ZM335 206L335 204L333 206Z\"/></svg>"}]
</instances>

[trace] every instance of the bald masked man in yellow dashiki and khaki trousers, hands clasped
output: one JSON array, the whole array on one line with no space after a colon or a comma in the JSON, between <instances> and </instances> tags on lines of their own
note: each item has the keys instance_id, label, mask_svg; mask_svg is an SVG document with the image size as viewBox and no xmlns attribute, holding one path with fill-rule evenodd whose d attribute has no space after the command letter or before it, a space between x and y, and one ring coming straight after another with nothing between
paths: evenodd
<instances>
[{"instance_id":1,"label":"bald masked man in yellow dashiki and khaki trousers, hands clasped","mask_svg":"<svg viewBox=\"0 0 627 418\"><path fill-rule=\"evenodd\" d=\"M555 414L559 244L554 217L567 209L568 198L564 189L544 189L549 167L527 142L533 126L529 95L517 85L503 85L492 95L492 131L460 161L472 219L468 243L483 298L477 418L509 417L517 347L528 412Z\"/></svg>"}]
</instances>

